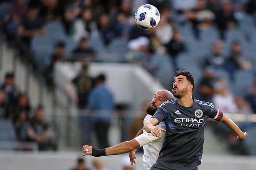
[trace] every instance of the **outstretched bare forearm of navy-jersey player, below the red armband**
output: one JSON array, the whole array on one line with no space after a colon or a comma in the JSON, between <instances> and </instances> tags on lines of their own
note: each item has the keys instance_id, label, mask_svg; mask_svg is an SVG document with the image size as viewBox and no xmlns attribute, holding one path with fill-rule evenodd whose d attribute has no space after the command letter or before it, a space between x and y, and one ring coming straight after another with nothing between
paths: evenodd
<instances>
[{"instance_id":1,"label":"outstretched bare forearm of navy-jersey player, below the red armband","mask_svg":"<svg viewBox=\"0 0 256 170\"><path fill-rule=\"evenodd\" d=\"M223 117L220 121L237 134L237 140L244 140L246 138L247 133L242 132L240 128L234 123L234 121L232 121L231 118L225 114L223 114Z\"/></svg>"}]
</instances>

